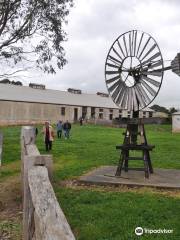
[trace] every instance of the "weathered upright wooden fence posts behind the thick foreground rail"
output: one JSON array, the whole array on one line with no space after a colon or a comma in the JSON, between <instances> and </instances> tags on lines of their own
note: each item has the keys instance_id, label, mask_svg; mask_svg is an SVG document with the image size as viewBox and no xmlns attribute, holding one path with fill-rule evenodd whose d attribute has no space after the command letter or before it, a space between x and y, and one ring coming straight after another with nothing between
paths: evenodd
<instances>
[{"instance_id":1,"label":"weathered upright wooden fence posts behind the thick foreground rail","mask_svg":"<svg viewBox=\"0 0 180 240\"><path fill-rule=\"evenodd\" d=\"M23 190L23 239L33 239L34 235L34 207L28 183L28 171L34 165L43 165L48 168L52 177L52 157L41 156L35 145L34 127L25 126L21 130L21 175Z\"/></svg>"}]
</instances>

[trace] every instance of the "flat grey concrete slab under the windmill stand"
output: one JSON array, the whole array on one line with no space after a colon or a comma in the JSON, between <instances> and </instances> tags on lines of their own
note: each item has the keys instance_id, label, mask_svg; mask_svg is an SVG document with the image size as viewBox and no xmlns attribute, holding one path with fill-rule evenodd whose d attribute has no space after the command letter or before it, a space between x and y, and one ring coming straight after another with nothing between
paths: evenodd
<instances>
[{"instance_id":1,"label":"flat grey concrete slab under the windmill stand","mask_svg":"<svg viewBox=\"0 0 180 240\"><path fill-rule=\"evenodd\" d=\"M78 182L96 185L126 185L129 187L155 187L165 189L180 189L180 170L154 169L149 179L143 171L122 171L120 177L115 177L117 166L103 166L79 178Z\"/></svg>"}]
</instances>

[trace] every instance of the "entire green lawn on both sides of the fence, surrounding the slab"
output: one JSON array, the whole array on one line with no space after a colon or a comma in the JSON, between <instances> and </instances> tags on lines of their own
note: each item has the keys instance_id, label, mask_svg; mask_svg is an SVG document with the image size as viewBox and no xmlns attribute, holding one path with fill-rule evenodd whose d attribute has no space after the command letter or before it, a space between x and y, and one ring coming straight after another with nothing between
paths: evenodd
<instances>
[{"instance_id":1,"label":"entire green lawn on both sides of the fence, surrounding the slab","mask_svg":"<svg viewBox=\"0 0 180 240\"><path fill-rule=\"evenodd\" d=\"M20 127L6 127L1 131L4 133L4 163L0 172L0 188L3 189L6 183L10 193L0 190L0 210L3 206L0 229L3 224L15 224L13 234L18 236L21 218L18 217L17 220L15 214L6 217L4 213L8 210L8 203L9 206L19 204L16 213L20 211ZM69 140L56 139L53 143L54 189L76 239L139 239L134 234L137 226L174 230L173 234L145 234L141 239L180 239L179 192L105 187L70 188L61 184L62 180L75 179L95 167L116 165L119 153L115 146L122 143L123 131L101 126L73 125ZM146 126L146 134L149 143L156 146L151 154L153 166L180 169L180 134L172 134L168 125ZM41 134L38 135L37 145L41 153L45 153Z\"/></svg>"}]
</instances>

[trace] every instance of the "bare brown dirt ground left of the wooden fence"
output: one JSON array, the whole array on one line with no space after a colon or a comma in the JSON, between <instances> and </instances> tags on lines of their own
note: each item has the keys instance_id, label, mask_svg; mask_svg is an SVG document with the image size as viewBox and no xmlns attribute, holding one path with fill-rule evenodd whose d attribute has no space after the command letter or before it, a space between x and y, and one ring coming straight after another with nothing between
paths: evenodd
<instances>
[{"instance_id":1,"label":"bare brown dirt ground left of the wooden fence","mask_svg":"<svg viewBox=\"0 0 180 240\"><path fill-rule=\"evenodd\" d=\"M0 182L0 240L20 240L22 197L20 176Z\"/></svg>"}]
</instances>

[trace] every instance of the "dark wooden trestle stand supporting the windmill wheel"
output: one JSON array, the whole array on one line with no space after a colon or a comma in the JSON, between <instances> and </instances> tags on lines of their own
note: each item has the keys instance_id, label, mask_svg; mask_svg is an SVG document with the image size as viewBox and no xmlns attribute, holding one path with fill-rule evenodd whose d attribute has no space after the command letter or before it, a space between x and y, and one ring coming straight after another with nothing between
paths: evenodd
<instances>
[{"instance_id":1,"label":"dark wooden trestle stand supporting the windmill wheel","mask_svg":"<svg viewBox=\"0 0 180 240\"><path fill-rule=\"evenodd\" d=\"M116 146L116 149L120 150L120 159L116 171L116 176L121 176L121 171L125 170L139 170L145 172L145 178L149 178L149 174L153 173L153 167L150 158L150 151L155 147L149 145L146 138L143 119L138 119L136 115L138 112L133 113L133 119L129 119L127 122L126 132L124 133L124 141L122 145ZM138 143L138 137L140 143ZM131 152L141 152L140 156L131 156ZM142 168L129 167L129 161L142 161Z\"/></svg>"}]
</instances>

